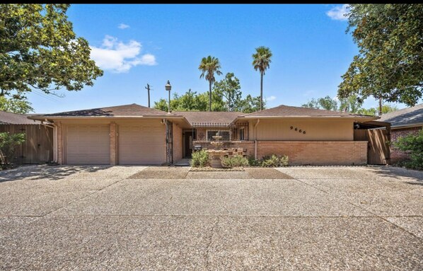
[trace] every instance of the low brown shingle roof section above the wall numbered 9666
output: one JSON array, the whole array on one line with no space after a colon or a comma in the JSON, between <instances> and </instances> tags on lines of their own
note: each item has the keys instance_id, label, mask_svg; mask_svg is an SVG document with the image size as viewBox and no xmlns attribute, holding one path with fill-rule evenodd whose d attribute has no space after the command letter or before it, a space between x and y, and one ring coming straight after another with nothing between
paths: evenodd
<instances>
[{"instance_id":1,"label":"low brown shingle roof section above the wall numbered 9666","mask_svg":"<svg viewBox=\"0 0 423 271\"><path fill-rule=\"evenodd\" d=\"M340 111L321 110L314 108L300 108L296 106L279 105L276 108L269 108L255 113L250 113L244 117L370 117L344 113ZM373 117L376 119L376 117Z\"/></svg>"}]
</instances>

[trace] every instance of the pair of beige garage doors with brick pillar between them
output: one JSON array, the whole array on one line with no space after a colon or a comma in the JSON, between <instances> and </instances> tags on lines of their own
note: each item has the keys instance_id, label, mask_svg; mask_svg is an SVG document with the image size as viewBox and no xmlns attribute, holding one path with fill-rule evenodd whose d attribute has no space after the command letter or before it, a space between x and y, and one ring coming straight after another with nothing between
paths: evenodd
<instances>
[{"instance_id":1,"label":"pair of beige garage doors with brick pillar between them","mask_svg":"<svg viewBox=\"0 0 423 271\"><path fill-rule=\"evenodd\" d=\"M160 120L64 125L66 164L121 165L166 162L166 128ZM113 140L115 139L115 140ZM112 142L112 144L110 144Z\"/></svg>"}]
</instances>

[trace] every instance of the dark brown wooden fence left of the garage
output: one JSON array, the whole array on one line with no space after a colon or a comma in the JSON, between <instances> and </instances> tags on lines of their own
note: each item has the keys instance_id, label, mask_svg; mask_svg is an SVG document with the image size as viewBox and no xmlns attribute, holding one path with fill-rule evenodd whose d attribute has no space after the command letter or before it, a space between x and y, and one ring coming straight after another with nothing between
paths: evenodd
<instances>
[{"instance_id":1,"label":"dark brown wooden fence left of the garage","mask_svg":"<svg viewBox=\"0 0 423 271\"><path fill-rule=\"evenodd\" d=\"M44 125L0 125L0 132L25 133L16 148L14 163L45 163L53 160L53 129Z\"/></svg>"}]
</instances>

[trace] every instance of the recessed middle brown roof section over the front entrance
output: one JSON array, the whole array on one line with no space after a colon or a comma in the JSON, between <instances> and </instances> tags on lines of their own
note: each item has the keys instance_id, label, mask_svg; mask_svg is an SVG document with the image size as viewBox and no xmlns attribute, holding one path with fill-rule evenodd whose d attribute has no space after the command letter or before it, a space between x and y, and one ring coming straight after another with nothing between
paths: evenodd
<instances>
[{"instance_id":1,"label":"recessed middle brown roof section over the front entrance","mask_svg":"<svg viewBox=\"0 0 423 271\"><path fill-rule=\"evenodd\" d=\"M195 127L200 126L228 126L244 113L241 112L199 112L199 111L175 111L177 115L184 116L190 125Z\"/></svg>"}]
</instances>

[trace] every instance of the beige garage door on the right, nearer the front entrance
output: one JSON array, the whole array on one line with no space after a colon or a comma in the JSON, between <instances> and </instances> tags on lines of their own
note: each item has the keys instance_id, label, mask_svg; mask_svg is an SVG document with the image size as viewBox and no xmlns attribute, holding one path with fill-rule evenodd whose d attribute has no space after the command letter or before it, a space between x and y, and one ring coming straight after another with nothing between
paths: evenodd
<instances>
[{"instance_id":1,"label":"beige garage door on the right, nearer the front entrance","mask_svg":"<svg viewBox=\"0 0 423 271\"><path fill-rule=\"evenodd\" d=\"M119 125L121 165L159 165L166 162L165 127L159 120Z\"/></svg>"}]
</instances>

